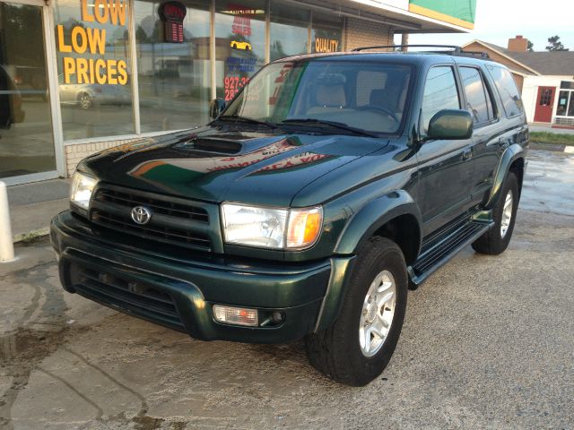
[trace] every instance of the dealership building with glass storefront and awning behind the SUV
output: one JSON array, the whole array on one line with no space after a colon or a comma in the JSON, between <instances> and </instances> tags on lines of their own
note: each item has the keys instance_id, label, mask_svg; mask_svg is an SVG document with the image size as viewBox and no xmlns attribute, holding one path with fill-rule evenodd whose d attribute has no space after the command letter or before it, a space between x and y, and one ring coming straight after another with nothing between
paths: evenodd
<instances>
[{"instance_id":1,"label":"dealership building with glass storefront and awning behind the SUV","mask_svg":"<svg viewBox=\"0 0 574 430\"><path fill-rule=\"evenodd\" d=\"M209 121L283 56L465 32L475 0L0 1L0 180L69 176L87 155Z\"/></svg>"}]
</instances>

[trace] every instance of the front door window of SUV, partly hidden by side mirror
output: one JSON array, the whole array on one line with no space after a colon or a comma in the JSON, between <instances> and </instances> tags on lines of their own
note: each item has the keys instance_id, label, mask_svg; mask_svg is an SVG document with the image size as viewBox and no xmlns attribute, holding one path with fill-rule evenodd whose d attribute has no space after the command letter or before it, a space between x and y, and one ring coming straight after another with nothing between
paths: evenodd
<instances>
[{"instance_id":1,"label":"front door window of SUV, partly hidden by side mirror","mask_svg":"<svg viewBox=\"0 0 574 430\"><path fill-rule=\"evenodd\" d=\"M427 74L422 96L422 133L429 131L432 116L442 109L460 109L457 82L452 67L433 67Z\"/></svg>"}]
</instances>

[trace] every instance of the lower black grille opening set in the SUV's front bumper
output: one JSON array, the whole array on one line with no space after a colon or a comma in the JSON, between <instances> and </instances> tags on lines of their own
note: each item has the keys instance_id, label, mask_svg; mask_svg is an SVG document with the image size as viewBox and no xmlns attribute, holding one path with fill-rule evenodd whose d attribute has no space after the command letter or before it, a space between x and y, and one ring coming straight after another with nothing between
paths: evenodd
<instances>
[{"instance_id":1,"label":"lower black grille opening set in the SUV's front bumper","mask_svg":"<svg viewBox=\"0 0 574 430\"><path fill-rule=\"evenodd\" d=\"M185 331L169 293L140 280L72 265L72 287L83 297L178 331Z\"/></svg>"}]
</instances>

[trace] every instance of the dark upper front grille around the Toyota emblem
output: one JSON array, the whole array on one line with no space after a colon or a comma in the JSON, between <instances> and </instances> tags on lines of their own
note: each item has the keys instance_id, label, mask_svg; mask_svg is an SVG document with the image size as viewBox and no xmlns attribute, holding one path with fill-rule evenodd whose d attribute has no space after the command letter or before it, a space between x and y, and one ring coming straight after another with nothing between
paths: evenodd
<instances>
[{"instance_id":1,"label":"dark upper front grille around the Toyota emblem","mask_svg":"<svg viewBox=\"0 0 574 430\"><path fill-rule=\"evenodd\" d=\"M201 204L102 185L91 201L90 219L98 226L122 233L211 252L211 219ZM140 225L132 219L135 206L144 206L152 212L147 224Z\"/></svg>"}]
</instances>

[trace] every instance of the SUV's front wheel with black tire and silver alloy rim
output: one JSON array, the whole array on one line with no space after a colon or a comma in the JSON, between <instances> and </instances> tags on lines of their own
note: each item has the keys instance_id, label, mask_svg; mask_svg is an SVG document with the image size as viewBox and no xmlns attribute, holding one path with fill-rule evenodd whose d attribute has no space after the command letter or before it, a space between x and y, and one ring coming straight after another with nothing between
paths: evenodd
<instances>
[{"instance_id":1,"label":"SUV's front wheel with black tire and silver alloy rim","mask_svg":"<svg viewBox=\"0 0 574 430\"><path fill-rule=\"evenodd\" d=\"M408 276L401 249L372 237L361 249L341 314L329 328L310 334L310 364L339 383L364 386L383 372L403 328Z\"/></svg>"}]
</instances>

